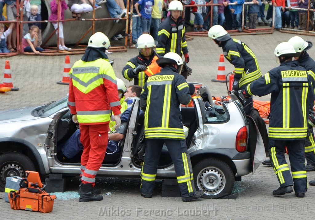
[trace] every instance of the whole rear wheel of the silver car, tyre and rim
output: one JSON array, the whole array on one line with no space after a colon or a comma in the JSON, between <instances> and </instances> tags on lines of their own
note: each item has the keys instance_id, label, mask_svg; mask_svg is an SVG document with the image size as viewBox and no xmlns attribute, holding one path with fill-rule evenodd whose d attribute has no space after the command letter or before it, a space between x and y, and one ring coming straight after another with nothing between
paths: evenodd
<instances>
[{"instance_id":1,"label":"whole rear wheel of the silver car, tyre and rim","mask_svg":"<svg viewBox=\"0 0 315 220\"><path fill-rule=\"evenodd\" d=\"M230 195L234 188L234 174L231 167L216 158L207 158L193 166L195 186L203 190L203 198L215 199Z\"/></svg>"}]
</instances>

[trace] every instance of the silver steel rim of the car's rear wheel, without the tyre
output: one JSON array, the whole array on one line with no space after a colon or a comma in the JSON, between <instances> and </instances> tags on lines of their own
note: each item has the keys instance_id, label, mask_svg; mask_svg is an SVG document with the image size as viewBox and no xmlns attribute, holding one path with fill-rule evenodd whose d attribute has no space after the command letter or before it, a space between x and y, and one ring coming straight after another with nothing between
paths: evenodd
<instances>
[{"instance_id":1,"label":"silver steel rim of the car's rear wheel, without the tyre","mask_svg":"<svg viewBox=\"0 0 315 220\"><path fill-rule=\"evenodd\" d=\"M223 191L226 184L224 173L217 167L207 167L197 175L197 186L206 195L218 195Z\"/></svg>"}]
</instances>

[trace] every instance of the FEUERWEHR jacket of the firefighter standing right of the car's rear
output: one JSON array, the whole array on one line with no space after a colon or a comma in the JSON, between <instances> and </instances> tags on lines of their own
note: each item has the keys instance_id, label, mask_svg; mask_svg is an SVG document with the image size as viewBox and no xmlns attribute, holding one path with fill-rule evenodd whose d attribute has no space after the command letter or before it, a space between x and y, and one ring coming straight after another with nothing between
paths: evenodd
<instances>
[{"instance_id":1,"label":"FEUERWEHR jacket of the firefighter standing right of the car's rear","mask_svg":"<svg viewBox=\"0 0 315 220\"><path fill-rule=\"evenodd\" d=\"M305 139L314 93L306 70L286 61L246 87L250 95L271 93L269 138Z\"/></svg>"}]
</instances>

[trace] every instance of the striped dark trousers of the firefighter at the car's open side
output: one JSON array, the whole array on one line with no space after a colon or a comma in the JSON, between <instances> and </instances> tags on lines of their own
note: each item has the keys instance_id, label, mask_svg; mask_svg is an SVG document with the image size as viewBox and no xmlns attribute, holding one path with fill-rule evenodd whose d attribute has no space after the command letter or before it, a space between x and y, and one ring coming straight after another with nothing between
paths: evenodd
<instances>
[{"instance_id":1,"label":"striped dark trousers of the firefighter at the car's open side","mask_svg":"<svg viewBox=\"0 0 315 220\"><path fill-rule=\"evenodd\" d=\"M192 165L185 140L146 139L146 155L141 169L141 193L152 195L161 150L165 143L174 163L177 183L182 197L194 195L196 192Z\"/></svg>"}]
</instances>

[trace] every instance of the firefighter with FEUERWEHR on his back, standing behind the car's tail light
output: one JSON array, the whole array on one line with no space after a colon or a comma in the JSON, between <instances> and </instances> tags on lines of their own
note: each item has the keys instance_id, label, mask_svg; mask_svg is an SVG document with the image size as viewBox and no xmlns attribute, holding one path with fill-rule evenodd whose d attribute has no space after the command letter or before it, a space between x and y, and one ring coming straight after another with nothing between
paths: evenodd
<instances>
[{"instance_id":1,"label":"firefighter with FEUERWEHR on his back, standing behind the car's tail light","mask_svg":"<svg viewBox=\"0 0 315 220\"><path fill-rule=\"evenodd\" d=\"M247 85L244 94L263 96L271 93L269 123L269 156L280 187L272 195L293 192L304 197L307 190L304 144L310 103L314 92L305 68L292 61L297 54L291 44L282 42L274 54L280 61L276 67ZM291 172L285 160L287 147Z\"/></svg>"}]
</instances>

